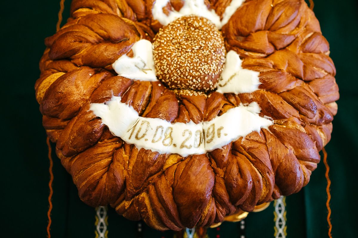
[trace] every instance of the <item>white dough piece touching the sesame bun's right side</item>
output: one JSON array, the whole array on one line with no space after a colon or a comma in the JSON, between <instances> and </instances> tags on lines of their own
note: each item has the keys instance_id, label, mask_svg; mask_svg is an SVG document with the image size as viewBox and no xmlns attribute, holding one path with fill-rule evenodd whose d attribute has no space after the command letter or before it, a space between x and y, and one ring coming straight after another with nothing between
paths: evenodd
<instances>
[{"instance_id":1,"label":"white dough piece touching the sesame bun's right side","mask_svg":"<svg viewBox=\"0 0 358 238\"><path fill-rule=\"evenodd\" d=\"M239 55L231 50L226 54L225 64L218 81L217 92L250 93L258 90L259 72L243 69Z\"/></svg>"}]
</instances>

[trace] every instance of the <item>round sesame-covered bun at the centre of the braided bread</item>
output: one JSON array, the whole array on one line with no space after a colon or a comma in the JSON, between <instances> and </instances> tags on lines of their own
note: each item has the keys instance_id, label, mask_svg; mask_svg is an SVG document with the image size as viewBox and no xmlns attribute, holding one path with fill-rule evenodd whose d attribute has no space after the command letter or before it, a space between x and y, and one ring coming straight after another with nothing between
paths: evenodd
<instances>
[{"instance_id":1,"label":"round sesame-covered bun at the centre of the braided bread","mask_svg":"<svg viewBox=\"0 0 358 238\"><path fill-rule=\"evenodd\" d=\"M216 87L226 50L210 20L184 16L159 30L153 54L157 77L168 87L209 91Z\"/></svg>"}]
</instances>

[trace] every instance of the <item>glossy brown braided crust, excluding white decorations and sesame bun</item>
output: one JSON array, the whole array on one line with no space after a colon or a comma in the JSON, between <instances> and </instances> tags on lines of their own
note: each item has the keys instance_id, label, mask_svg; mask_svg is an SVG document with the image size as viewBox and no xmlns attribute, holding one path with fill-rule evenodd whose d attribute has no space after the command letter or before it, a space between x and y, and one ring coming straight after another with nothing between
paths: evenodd
<instances>
[{"instance_id":1,"label":"glossy brown braided crust, excluding white decorations and sesame bun","mask_svg":"<svg viewBox=\"0 0 358 238\"><path fill-rule=\"evenodd\" d=\"M68 23L45 41L36 98L82 201L110 204L156 229L180 230L209 226L239 209L252 211L300 191L330 140L339 98L329 45L314 13L303 0L246 1L223 27L223 36L244 68L260 72L260 90L203 96L113 76L111 64L134 42L152 40L144 25L158 31L153 2L74 0ZM181 3L173 0L170 7ZM220 13L228 1L210 4ZM261 116L274 125L207 155L159 155L111 135L88 111L89 103L112 95L142 116L170 122L211 120L256 101Z\"/></svg>"}]
</instances>

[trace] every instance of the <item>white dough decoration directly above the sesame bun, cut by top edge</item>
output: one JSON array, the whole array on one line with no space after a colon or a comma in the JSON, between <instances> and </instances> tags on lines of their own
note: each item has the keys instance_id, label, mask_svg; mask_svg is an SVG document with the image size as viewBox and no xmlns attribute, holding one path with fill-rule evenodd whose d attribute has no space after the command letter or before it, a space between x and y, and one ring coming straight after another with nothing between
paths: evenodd
<instances>
[{"instance_id":1,"label":"white dough decoration directly above the sesame bun, cut by top edge","mask_svg":"<svg viewBox=\"0 0 358 238\"><path fill-rule=\"evenodd\" d=\"M218 29L221 29L245 0L232 0L229 6L226 7L222 20L220 20L220 16L216 14L214 9L208 9L204 0L184 0L184 5L179 11L173 9L167 16L163 12L163 7L165 7L169 1L170 0L156 0L152 9L153 18L158 20L163 26L168 25L170 22L182 16L197 15L211 20Z\"/></svg>"}]
</instances>

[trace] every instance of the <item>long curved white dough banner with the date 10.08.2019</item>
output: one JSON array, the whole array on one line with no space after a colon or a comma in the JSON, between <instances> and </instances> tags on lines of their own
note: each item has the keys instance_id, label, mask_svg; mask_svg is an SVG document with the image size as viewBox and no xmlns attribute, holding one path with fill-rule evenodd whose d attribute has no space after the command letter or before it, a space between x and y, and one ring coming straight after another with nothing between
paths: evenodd
<instances>
[{"instance_id":1,"label":"long curved white dough banner with the date 10.08.2019","mask_svg":"<svg viewBox=\"0 0 358 238\"><path fill-rule=\"evenodd\" d=\"M140 117L133 107L116 96L106 103L91 103L89 110L102 119L113 135L138 149L160 154L177 153L183 157L213 151L272 125L271 120L259 116L261 109L256 102L231 108L199 124Z\"/></svg>"}]
</instances>

